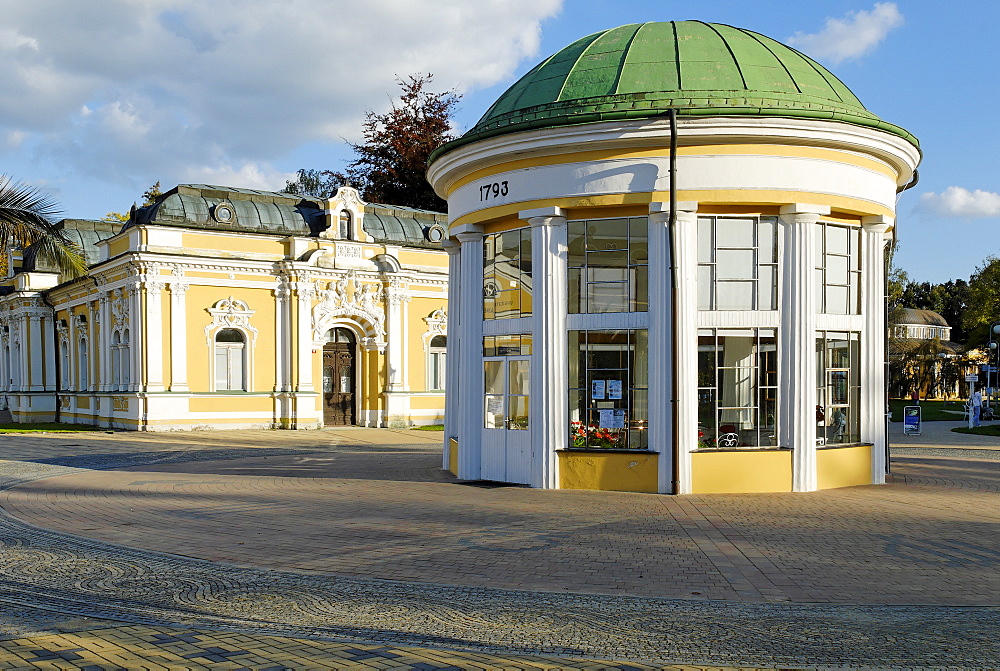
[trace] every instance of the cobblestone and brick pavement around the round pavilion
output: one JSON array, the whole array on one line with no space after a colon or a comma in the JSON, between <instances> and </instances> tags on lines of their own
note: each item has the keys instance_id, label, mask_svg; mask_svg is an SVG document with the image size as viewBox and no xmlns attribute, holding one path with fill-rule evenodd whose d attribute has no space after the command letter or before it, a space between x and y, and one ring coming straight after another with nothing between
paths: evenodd
<instances>
[{"instance_id":1,"label":"cobblestone and brick pavement around the round pavilion","mask_svg":"<svg viewBox=\"0 0 1000 671\"><path fill-rule=\"evenodd\" d=\"M0 437L18 613L0 655L56 613L88 640L129 629L110 622L223 651L218 632L333 639L410 650L403 668L1000 667L996 461L900 454L886 487L674 498L462 485L439 436Z\"/></svg>"}]
</instances>

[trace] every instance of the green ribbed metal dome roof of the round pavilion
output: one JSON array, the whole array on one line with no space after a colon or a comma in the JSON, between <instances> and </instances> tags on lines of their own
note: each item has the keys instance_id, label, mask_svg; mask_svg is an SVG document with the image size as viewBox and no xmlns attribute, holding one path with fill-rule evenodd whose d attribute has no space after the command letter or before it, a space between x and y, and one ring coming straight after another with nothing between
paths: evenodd
<instances>
[{"instance_id":1,"label":"green ribbed metal dome roof of the round pavilion","mask_svg":"<svg viewBox=\"0 0 1000 671\"><path fill-rule=\"evenodd\" d=\"M599 121L685 116L777 116L906 130L865 109L805 54L770 37L701 21L633 23L581 38L536 65L483 118L431 161L496 135Z\"/></svg>"}]
</instances>

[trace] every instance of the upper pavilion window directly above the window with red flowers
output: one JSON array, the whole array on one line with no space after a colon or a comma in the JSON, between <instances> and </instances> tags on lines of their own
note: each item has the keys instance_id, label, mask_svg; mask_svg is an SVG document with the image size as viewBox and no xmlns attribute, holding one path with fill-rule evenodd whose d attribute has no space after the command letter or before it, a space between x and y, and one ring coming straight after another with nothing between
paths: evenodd
<instances>
[{"instance_id":1,"label":"upper pavilion window directly above the window with red flowers","mask_svg":"<svg viewBox=\"0 0 1000 671\"><path fill-rule=\"evenodd\" d=\"M569 312L646 312L647 217L571 221Z\"/></svg>"}]
</instances>

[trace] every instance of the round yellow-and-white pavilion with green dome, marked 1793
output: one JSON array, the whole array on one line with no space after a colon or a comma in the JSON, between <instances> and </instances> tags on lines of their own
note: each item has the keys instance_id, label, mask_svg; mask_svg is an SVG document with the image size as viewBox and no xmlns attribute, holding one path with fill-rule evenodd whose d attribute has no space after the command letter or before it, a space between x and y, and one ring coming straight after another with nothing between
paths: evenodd
<instances>
[{"instance_id":1,"label":"round yellow-and-white pavilion with green dome, marked 1793","mask_svg":"<svg viewBox=\"0 0 1000 671\"><path fill-rule=\"evenodd\" d=\"M632 24L552 54L431 157L444 466L678 494L884 482L885 250L920 157L751 31Z\"/></svg>"}]
</instances>

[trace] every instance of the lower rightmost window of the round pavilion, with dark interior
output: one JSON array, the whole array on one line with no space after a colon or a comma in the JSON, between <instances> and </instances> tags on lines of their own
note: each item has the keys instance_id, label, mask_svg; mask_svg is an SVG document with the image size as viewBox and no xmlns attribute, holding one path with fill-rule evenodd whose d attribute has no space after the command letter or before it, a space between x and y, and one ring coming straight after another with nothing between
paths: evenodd
<instances>
[{"instance_id":1,"label":"lower rightmost window of the round pavilion, with dark interior","mask_svg":"<svg viewBox=\"0 0 1000 671\"><path fill-rule=\"evenodd\" d=\"M816 444L861 440L861 338L821 331L816 338Z\"/></svg>"}]
</instances>

